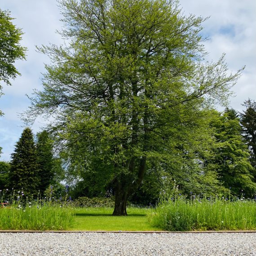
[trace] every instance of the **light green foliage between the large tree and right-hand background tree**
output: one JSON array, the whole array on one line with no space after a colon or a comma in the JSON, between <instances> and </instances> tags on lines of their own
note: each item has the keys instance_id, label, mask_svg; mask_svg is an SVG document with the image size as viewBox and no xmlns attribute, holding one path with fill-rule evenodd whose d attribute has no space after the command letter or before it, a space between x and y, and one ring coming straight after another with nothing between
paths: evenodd
<instances>
[{"instance_id":1,"label":"light green foliage between the large tree and right-hand background tree","mask_svg":"<svg viewBox=\"0 0 256 256\"><path fill-rule=\"evenodd\" d=\"M214 131L209 127L211 116L212 110L191 111L187 116L183 115L187 127L176 123L177 131L172 132L172 143L175 144L167 144L168 150L172 150L168 152L168 159L164 159L164 163L158 160L148 163L140 188L142 200L149 195L147 204L154 204L162 192L172 194L177 187L179 194L189 194L190 191L207 195L225 192L216 168L206 168L205 164L215 150ZM172 121L175 122L175 118ZM155 136L155 140L160 141L161 137ZM162 157L167 154L165 151Z\"/></svg>"}]
</instances>

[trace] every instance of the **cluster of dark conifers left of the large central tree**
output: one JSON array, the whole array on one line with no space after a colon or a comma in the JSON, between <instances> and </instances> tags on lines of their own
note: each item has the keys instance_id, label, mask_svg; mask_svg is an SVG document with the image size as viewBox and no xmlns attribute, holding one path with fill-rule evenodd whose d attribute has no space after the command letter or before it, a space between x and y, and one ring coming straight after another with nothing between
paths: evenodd
<instances>
[{"instance_id":1,"label":"cluster of dark conifers left of the large central tree","mask_svg":"<svg viewBox=\"0 0 256 256\"><path fill-rule=\"evenodd\" d=\"M34 135L25 128L15 145L11 161L0 162L0 182L2 188L23 191L26 196L43 194L50 184L54 184L56 161L53 158L53 144L46 131Z\"/></svg>"}]
</instances>

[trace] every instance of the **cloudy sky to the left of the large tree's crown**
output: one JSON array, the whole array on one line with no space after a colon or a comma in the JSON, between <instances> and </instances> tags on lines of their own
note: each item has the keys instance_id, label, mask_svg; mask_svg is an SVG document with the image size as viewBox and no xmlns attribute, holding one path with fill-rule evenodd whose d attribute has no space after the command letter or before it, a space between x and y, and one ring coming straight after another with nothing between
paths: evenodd
<instances>
[{"instance_id":1,"label":"cloudy sky to the left of the large tree's crown","mask_svg":"<svg viewBox=\"0 0 256 256\"><path fill-rule=\"evenodd\" d=\"M44 72L44 63L48 63L47 56L35 51L35 45L61 44L60 35L55 33L61 29L61 15L55 0L42 1L17 1L2 0L0 8L9 9L13 23L22 28L23 46L26 46L26 61L17 61L15 66L22 76L18 76L12 86L3 88L4 96L0 98L0 109L5 115L0 117L0 146L3 148L1 159L8 160L13 146L21 136L23 124L18 113L26 110L30 102L25 94L31 95L34 88L41 88L41 73ZM40 130L40 122L35 122L31 127L34 132Z\"/></svg>"}]
</instances>

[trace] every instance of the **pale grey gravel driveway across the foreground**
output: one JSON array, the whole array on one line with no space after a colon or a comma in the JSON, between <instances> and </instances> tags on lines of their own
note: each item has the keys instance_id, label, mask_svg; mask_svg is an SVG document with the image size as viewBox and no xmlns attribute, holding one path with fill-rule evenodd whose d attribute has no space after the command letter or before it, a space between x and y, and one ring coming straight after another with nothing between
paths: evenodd
<instances>
[{"instance_id":1,"label":"pale grey gravel driveway across the foreground","mask_svg":"<svg viewBox=\"0 0 256 256\"><path fill-rule=\"evenodd\" d=\"M256 256L256 233L0 233L7 255Z\"/></svg>"}]
</instances>

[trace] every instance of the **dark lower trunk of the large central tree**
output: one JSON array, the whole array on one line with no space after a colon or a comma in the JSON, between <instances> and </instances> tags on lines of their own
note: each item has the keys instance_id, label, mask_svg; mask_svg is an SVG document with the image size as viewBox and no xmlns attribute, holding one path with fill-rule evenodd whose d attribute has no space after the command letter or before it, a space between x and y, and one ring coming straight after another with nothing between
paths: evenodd
<instances>
[{"instance_id":1,"label":"dark lower trunk of the large central tree","mask_svg":"<svg viewBox=\"0 0 256 256\"><path fill-rule=\"evenodd\" d=\"M127 216L126 203L127 203L128 190L118 184L115 191L115 209L113 216Z\"/></svg>"}]
</instances>

